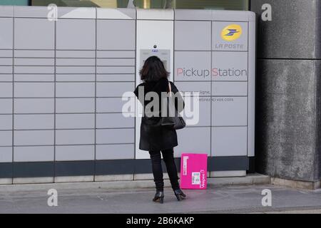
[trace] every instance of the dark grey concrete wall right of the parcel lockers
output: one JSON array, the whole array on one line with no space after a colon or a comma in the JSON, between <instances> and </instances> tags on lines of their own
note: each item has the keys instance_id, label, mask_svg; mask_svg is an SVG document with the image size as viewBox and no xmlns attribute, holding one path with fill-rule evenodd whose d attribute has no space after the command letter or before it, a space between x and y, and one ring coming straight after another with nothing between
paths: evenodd
<instances>
[{"instance_id":1,"label":"dark grey concrete wall right of the parcel lockers","mask_svg":"<svg viewBox=\"0 0 321 228\"><path fill-rule=\"evenodd\" d=\"M256 169L320 180L321 1L255 0L258 14ZM262 21L261 6L272 6Z\"/></svg>"}]
</instances>

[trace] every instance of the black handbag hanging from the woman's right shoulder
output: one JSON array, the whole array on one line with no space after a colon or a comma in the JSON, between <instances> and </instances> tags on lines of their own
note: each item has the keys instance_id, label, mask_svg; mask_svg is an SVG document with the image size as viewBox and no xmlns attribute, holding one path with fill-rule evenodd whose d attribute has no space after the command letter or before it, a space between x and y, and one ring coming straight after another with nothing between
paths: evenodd
<instances>
[{"instance_id":1,"label":"black handbag hanging from the woman's right shoulder","mask_svg":"<svg viewBox=\"0 0 321 228\"><path fill-rule=\"evenodd\" d=\"M180 116L178 111L175 108L175 103L173 102L173 98L171 96L171 87L170 83L168 83L169 87L169 92L170 95L169 97L166 97L166 106L167 106L167 115L163 116L161 118L161 125L164 126L165 128L170 128L170 129L182 129L185 128L186 123L183 117Z\"/></svg>"}]
</instances>

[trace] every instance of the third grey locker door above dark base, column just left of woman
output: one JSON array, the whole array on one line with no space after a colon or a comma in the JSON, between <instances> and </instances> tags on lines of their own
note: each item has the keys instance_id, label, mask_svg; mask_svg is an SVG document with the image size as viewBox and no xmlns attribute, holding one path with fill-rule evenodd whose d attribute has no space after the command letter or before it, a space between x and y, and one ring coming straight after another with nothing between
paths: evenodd
<instances>
[{"instance_id":1,"label":"third grey locker door above dark base, column just left of woman","mask_svg":"<svg viewBox=\"0 0 321 228\"><path fill-rule=\"evenodd\" d=\"M96 115L96 128L134 128L135 119L124 117L122 113Z\"/></svg>"}]
</instances>

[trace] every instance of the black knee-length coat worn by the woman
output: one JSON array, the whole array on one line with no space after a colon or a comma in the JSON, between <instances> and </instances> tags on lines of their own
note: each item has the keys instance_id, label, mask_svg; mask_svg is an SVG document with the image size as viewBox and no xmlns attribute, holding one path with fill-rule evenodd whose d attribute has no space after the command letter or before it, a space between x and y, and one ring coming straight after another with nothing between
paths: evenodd
<instances>
[{"instance_id":1,"label":"black knee-length coat worn by the woman","mask_svg":"<svg viewBox=\"0 0 321 228\"><path fill-rule=\"evenodd\" d=\"M147 81L137 86L134 91L138 98L138 88L143 86L144 98L148 92L156 92L159 95L161 107L161 92L168 92L168 79L161 78L159 81ZM178 93L178 88L170 82L171 90L175 93L175 108L178 109L178 102L183 102L183 98ZM178 93L178 94L176 94ZM144 108L152 100L140 100ZM184 104L184 103L183 103ZM184 107L184 105L183 105ZM145 110L145 109L144 109ZM182 109L183 110L183 109ZM180 113L182 110L178 110ZM161 117L146 117L143 115L141 120L141 138L139 141L140 150L166 150L178 145L175 129L165 128L160 124Z\"/></svg>"}]
</instances>

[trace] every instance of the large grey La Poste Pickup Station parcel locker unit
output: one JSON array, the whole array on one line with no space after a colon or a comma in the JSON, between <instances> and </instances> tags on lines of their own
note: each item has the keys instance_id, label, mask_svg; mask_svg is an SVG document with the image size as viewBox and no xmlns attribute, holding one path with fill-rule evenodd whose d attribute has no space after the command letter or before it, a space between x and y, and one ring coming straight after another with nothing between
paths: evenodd
<instances>
[{"instance_id":1,"label":"large grey La Poste Pickup Station parcel locker unit","mask_svg":"<svg viewBox=\"0 0 321 228\"><path fill-rule=\"evenodd\" d=\"M206 153L211 176L245 174L254 157L253 13L51 10L0 6L0 183L151 178L141 118L123 115L129 101L129 114L141 108L128 92L149 56L161 58L190 113L199 108L182 113L178 165L183 152Z\"/></svg>"}]
</instances>

